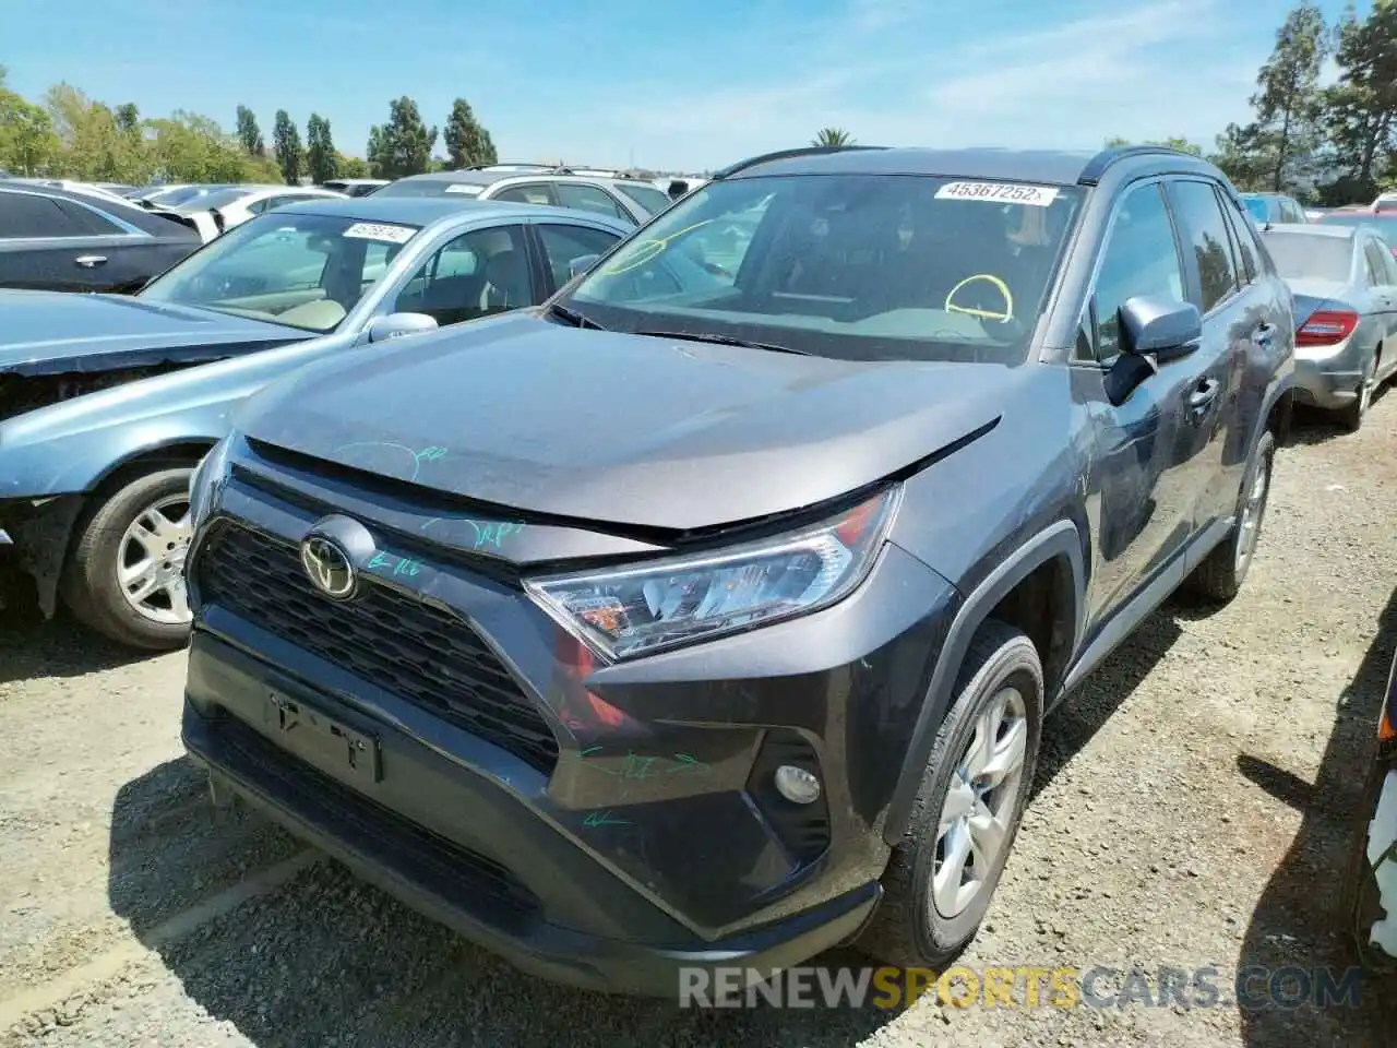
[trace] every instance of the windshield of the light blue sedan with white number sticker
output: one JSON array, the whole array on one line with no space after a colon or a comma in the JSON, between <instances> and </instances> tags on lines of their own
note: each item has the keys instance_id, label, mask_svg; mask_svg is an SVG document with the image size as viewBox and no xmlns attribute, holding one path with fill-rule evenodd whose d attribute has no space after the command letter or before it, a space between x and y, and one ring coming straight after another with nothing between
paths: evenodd
<instances>
[{"instance_id":1,"label":"windshield of the light blue sedan with white number sticker","mask_svg":"<svg viewBox=\"0 0 1397 1048\"><path fill-rule=\"evenodd\" d=\"M210 242L138 298L332 331L418 229L274 211Z\"/></svg>"}]
</instances>

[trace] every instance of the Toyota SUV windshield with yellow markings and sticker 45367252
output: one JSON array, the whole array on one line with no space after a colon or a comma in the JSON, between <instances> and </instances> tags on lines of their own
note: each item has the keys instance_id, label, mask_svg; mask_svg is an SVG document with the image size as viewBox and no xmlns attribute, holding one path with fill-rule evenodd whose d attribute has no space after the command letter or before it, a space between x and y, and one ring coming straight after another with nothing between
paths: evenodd
<instances>
[{"instance_id":1,"label":"Toyota SUV windshield with yellow markings and sticker 45367252","mask_svg":"<svg viewBox=\"0 0 1397 1048\"><path fill-rule=\"evenodd\" d=\"M711 182L564 303L620 331L1020 363L1081 198L1076 187L925 176Z\"/></svg>"}]
</instances>

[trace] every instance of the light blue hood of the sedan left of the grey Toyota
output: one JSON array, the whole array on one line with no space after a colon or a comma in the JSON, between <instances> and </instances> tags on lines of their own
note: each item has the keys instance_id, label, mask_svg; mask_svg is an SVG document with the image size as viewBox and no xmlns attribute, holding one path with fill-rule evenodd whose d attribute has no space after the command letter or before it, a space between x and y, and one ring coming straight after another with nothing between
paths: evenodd
<instances>
[{"instance_id":1,"label":"light blue hood of the sedan left of the grey Toyota","mask_svg":"<svg viewBox=\"0 0 1397 1048\"><path fill-rule=\"evenodd\" d=\"M0 291L0 374L200 363L313 335L127 295Z\"/></svg>"}]
</instances>

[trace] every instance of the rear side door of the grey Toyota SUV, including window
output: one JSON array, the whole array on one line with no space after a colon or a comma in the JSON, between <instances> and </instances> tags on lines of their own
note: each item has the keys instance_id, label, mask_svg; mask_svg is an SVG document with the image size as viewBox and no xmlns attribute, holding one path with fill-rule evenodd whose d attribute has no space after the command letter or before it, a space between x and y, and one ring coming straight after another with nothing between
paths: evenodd
<instances>
[{"instance_id":1,"label":"rear side door of the grey Toyota SUV, including window","mask_svg":"<svg viewBox=\"0 0 1397 1048\"><path fill-rule=\"evenodd\" d=\"M1185 245L1189 300L1203 314L1203 338L1189 359L1194 381L1176 450L1193 493L1193 530L1203 532L1236 509L1246 458L1236 454L1232 437L1246 421L1241 397L1249 342L1274 342L1281 331L1268 313L1268 285L1249 279L1238 259L1218 183L1175 177L1166 184Z\"/></svg>"}]
</instances>

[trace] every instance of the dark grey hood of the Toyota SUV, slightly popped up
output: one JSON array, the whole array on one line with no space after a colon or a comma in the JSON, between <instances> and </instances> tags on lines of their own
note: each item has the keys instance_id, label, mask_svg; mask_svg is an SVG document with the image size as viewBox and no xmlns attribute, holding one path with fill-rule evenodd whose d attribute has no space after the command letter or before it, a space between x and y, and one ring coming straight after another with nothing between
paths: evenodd
<instances>
[{"instance_id":1,"label":"dark grey hood of the Toyota SUV, slightly popped up","mask_svg":"<svg viewBox=\"0 0 1397 1048\"><path fill-rule=\"evenodd\" d=\"M1016 380L995 365L833 361L514 314L312 365L236 426L454 496L690 531L883 479L992 425Z\"/></svg>"}]
</instances>

